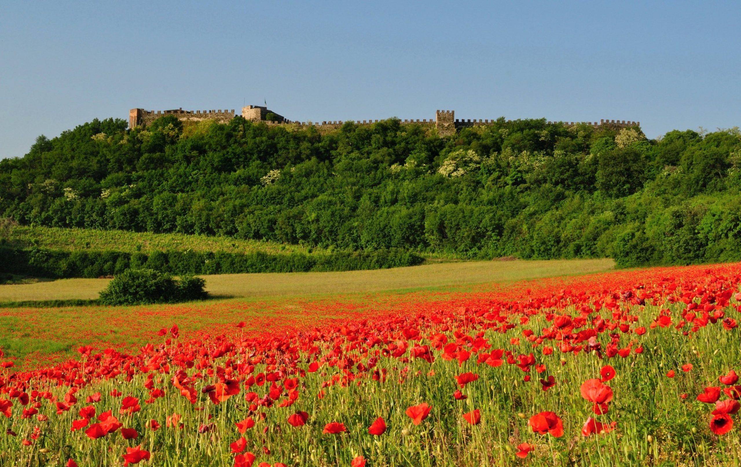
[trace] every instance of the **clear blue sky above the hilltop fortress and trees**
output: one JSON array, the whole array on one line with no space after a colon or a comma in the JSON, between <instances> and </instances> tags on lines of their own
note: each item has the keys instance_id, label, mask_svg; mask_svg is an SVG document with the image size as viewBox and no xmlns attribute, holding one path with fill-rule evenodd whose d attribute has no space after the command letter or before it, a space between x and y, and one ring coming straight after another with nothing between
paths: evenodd
<instances>
[{"instance_id":1,"label":"clear blue sky above the hilltop fortress and trees","mask_svg":"<svg viewBox=\"0 0 741 467\"><path fill-rule=\"evenodd\" d=\"M739 1L0 2L0 158L128 110L741 125Z\"/></svg>"}]
</instances>

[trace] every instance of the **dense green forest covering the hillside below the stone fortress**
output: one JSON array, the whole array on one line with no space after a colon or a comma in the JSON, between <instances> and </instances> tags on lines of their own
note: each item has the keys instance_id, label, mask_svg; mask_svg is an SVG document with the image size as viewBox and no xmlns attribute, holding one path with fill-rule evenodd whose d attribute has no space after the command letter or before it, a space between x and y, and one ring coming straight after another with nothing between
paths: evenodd
<instances>
[{"instance_id":1,"label":"dense green forest covering the hillside below the stone fortress","mask_svg":"<svg viewBox=\"0 0 741 467\"><path fill-rule=\"evenodd\" d=\"M202 233L343 251L618 265L741 260L741 133L499 119L455 136L375 125L127 129L94 120L0 161L24 225Z\"/></svg>"}]
</instances>

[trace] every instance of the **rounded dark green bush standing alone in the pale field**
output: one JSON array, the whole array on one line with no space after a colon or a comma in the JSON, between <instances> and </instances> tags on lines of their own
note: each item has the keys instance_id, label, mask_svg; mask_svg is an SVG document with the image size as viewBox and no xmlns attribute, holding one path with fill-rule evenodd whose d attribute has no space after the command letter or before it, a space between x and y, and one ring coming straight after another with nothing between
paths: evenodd
<instances>
[{"instance_id":1,"label":"rounded dark green bush standing alone in the pale field","mask_svg":"<svg viewBox=\"0 0 741 467\"><path fill-rule=\"evenodd\" d=\"M100 293L103 305L147 305L205 299L205 281L200 277L174 279L153 269L128 269L110 281Z\"/></svg>"}]
</instances>

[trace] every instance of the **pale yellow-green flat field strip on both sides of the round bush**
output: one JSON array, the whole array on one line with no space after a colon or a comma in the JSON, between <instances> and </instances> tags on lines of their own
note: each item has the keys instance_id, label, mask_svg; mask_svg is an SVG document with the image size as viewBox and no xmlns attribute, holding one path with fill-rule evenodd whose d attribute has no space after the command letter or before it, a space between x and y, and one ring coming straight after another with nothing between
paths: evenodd
<instances>
[{"instance_id":1,"label":"pale yellow-green flat field strip on both sides of the round bush","mask_svg":"<svg viewBox=\"0 0 741 467\"><path fill-rule=\"evenodd\" d=\"M539 277L608 271L611 259L548 261L443 262L373 271L287 274L216 274L204 276L216 297L270 297L347 294L505 282ZM0 285L0 302L95 299L110 279L60 279L33 284Z\"/></svg>"}]
</instances>

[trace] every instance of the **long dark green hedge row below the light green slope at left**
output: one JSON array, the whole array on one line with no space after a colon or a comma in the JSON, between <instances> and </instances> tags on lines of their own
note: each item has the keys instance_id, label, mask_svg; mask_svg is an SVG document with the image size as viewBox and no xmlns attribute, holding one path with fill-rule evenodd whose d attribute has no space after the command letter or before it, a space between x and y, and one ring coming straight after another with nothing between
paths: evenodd
<instances>
[{"instance_id":1,"label":"long dark green hedge row below the light green slope at left","mask_svg":"<svg viewBox=\"0 0 741 467\"><path fill-rule=\"evenodd\" d=\"M333 252L328 254L239 254L198 251L62 251L45 248L0 248L0 270L50 278L116 276L129 268L162 273L238 274L265 272L356 271L422 263L409 251Z\"/></svg>"}]
</instances>

